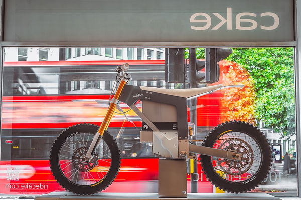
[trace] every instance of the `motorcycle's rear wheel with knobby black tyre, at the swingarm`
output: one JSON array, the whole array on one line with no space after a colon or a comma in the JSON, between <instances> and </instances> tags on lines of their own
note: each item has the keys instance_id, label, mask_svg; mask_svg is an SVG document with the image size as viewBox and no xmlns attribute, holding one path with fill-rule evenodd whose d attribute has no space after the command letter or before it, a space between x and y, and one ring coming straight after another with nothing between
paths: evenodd
<instances>
[{"instance_id":1,"label":"motorcycle's rear wheel with knobby black tyre, at the swingarm","mask_svg":"<svg viewBox=\"0 0 301 200\"><path fill-rule=\"evenodd\" d=\"M240 161L200 156L206 177L224 191L250 191L265 180L271 169L270 144L252 124L241 121L220 124L208 133L202 145L242 154Z\"/></svg>"}]
</instances>

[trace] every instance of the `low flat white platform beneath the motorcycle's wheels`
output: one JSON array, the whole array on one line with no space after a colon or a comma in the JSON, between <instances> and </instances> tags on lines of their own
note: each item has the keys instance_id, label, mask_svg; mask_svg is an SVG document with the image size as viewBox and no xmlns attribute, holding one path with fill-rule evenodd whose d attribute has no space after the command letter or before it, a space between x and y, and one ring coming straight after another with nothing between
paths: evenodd
<instances>
[{"instance_id":1,"label":"low flat white platform beneath the motorcycle's wheels","mask_svg":"<svg viewBox=\"0 0 301 200\"><path fill-rule=\"evenodd\" d=\"M98 193L90 196L80 196L69 192L51 192L35 197L35 200L154 200L170 199L183 200L183 198L159 198L158 193ZM280 200L280 198L265 193L188 193L190 200Z\"/></svg>"}]
</instances>

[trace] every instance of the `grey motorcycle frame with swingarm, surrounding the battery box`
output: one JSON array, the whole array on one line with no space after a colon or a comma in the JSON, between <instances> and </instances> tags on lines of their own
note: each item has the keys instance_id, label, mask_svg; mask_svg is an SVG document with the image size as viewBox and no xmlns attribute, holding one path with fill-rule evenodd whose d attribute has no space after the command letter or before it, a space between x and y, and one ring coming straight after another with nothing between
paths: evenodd
<instances>
[{"instance_id":1,"label":"grey motorcycle frame with swingarm, surrounding the battery box","mask_svg":"<svg viewBox=\"0 0 301 200\"><path fill-rule=\"evenodd\" d=\"M218 89L223 89L226 87L231 87L231 86L225 86ZM237 86L232 86L232 87L237 87ZM212 90L204 94L212 93L218 89ZM194 96L193 98L197 98L198 96L202 96L204 94ZM145 127L148 130L150 130L148 131L149 132L148 134L150 134L150 137L153 137L153 140L150 139L149 142L152 143L153 153L155 154L158 154L166 158L186 159L186 158L194 158L191 157L189 153L198 153L198 154L220 157L229 160L241 160L241 153L238 153L236 151L231 151L229 149L228 150L215 149L215 148L198 146L189 143L188 121L187 121L187 98L142 90L140 86L125 85L119 97L119 101L127 104L147 125L147 126L143 126L144 124L143 123L142 130ZM142 101L142 112L135 105L135 103L138 101ZM170 121L165 124L161 123L161 125L160 123L154 123L152 120L150 120L147 117L147 113L143 112L143 102L155 102L159 104L175 106L176 121ZM177 137L175 138L174 135L176 135ZM166 140L165 143L163 141L164 139ZM176 146L178 148L176 148ZM164 153L165 151L168 152L168 154ZM175 153L175 151L177 151L177 153Z\"/></svg>"}]
</instances>

